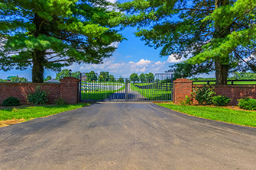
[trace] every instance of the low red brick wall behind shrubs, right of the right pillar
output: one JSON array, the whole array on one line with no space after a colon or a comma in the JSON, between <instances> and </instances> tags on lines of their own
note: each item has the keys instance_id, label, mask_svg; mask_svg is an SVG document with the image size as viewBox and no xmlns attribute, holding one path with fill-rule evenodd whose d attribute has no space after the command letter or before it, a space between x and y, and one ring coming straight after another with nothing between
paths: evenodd
<instances>
[{"instance_id":1,"label":"low red brick wall behind shrubs, right of the right pillar","mask_svg":"<svg viewBox=\"0 0 256 170\"><path fill-rule=\"evenodd\" d=\"M193 85L193 88L203 88L203 85ZM256 85L209 85L213 87L216 95L225 95L232 98L230 105L238 104L240 98L256 98ZM193 98L193 104L198 104Z\"/></svg>"}]
</instances>

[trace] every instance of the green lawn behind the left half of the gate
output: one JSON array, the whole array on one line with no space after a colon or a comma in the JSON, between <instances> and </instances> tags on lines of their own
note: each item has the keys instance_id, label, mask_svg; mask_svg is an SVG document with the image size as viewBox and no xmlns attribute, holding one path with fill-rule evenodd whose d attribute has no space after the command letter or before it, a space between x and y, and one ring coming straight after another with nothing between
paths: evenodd
<instances>
[{"instance_id":1,"label":"green lawn behind the left half of the gate","mask_svg":"<svg viewBox=\"0 0 256 170\"><path fill-rule=\"evenodd\" d=\"M81 99L91 101L104 101L106 98L109 98L109 96L113 93L122 90L125 90L125 84L122 86L122 88L116 90L82 91Z\"/></svg>"}]
</instances>

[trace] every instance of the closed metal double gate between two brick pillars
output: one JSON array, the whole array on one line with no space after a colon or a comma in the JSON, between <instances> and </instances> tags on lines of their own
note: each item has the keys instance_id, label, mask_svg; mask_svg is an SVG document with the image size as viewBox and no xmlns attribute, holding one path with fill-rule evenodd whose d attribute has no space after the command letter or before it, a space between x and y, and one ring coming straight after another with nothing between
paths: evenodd
<instances>
[{"instance_id":1,"label":"closed metal double gate between two brick pillars","mask_svg":"<svg viewBox=\"0 0 256 170\"><path fill-rule=\"evenodd\" d=\"M154 78L116 79L81 73L79 91L80 101L173 101L173 76L163 73Z\"/></svg>"}]
</instances>

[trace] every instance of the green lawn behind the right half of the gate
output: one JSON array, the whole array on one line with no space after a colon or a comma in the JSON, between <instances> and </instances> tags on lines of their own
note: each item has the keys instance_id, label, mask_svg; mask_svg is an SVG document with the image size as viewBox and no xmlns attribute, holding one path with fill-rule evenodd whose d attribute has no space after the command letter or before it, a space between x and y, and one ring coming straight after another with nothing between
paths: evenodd
<instances>
[{"instance_id":1,"label":"green lawn behind the right half of the gate","mask_svg":"<svg viewBox=\"0 0 256 170\"><path fill-rule=\"evenodd\" d=\"M171 91L165 91L160 89L142 89L130 84L132 91L138 91L144 98L155 101L170 101L171 100Z\"/></svg>"}]
</instances>

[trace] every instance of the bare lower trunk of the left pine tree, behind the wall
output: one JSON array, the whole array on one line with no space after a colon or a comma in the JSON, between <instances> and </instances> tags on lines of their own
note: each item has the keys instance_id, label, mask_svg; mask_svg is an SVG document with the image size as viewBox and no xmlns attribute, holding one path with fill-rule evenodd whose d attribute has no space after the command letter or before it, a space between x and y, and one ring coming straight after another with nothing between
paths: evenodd
<instances>
[{"instance_id":1,"label":"bare lower trunk of the left pine tree, behind the wall","mask_svg":"<svg viewBox=\"0 0 256 170\"><path fill-rule=\"evenodd\" d=\"M34 83L44 82L44 56L44 51L34 50L32 67L32 82Z\"/></svg>"}]
</instances>

